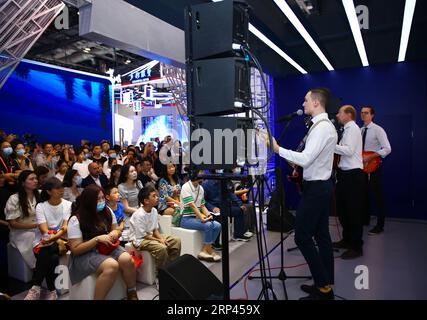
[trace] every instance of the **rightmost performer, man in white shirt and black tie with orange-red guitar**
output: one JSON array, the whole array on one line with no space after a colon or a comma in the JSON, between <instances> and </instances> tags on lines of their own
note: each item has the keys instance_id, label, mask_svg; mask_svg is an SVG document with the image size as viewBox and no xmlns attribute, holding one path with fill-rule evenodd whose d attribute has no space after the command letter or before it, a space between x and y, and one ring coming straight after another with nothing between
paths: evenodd
<instances>
[{"instance_id":1,"label":"rightmost performer, man in white shirt and black tie with orange-red guitar","mask_svg":"<svg viewBox=\"0 0 427 320\"><path fill-rule=\"evenodd\" d=\"M371 106L362 108L361 112L363 127L362 127L362 143L363 152L371 151L371 154L363 157L364 164L369 163L375 158L385 158L391 153L390 142L388 141L387 134L383 128L375 124L372 120L375 116L375 110ZM365 174L366 187L366 211L365 211L365 225L369 225L369 192L372 191L375 202L377 204L377 225L369 231L369 235L377 235L384 231L385 219L385 204L381 182L381 169Z\"/></svg>"}]
</instances>

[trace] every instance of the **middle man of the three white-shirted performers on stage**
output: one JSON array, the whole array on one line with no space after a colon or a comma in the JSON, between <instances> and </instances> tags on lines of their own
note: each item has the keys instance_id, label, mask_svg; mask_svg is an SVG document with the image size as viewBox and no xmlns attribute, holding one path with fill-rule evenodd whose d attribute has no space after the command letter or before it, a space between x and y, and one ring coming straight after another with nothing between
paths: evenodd
<instances>
[{"instance_id":1,"label":"middle man of the three white-shirted performers on stage","mask_svg":"<svg viewBox=\"0 0 427 320\"><path fill-rule=\"evenodd\" d=\"M335 147L340 156L335 189L337 213L342 226L342 240L333 246L347 249L341 258L348 260L363 255L364 186L362 160L362 136L356 124L356 109L353 106L340 108L337 119L344 125L342 139Z\"/></svg>"}]
</instances>

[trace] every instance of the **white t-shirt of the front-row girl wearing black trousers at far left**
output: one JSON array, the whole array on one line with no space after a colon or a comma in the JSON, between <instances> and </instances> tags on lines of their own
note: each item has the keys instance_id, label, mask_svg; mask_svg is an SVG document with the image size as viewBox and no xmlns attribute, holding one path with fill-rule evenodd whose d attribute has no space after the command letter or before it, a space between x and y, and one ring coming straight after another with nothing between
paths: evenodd
<instances>
[{"instance_id":1,"label":"white t-shirt of the front-row girl wearing black trousers at far left","mask_svg":"<svg viewBox=\"0 0 427 320\"><path fill-rule=\"evenodd\" d=\"M37 224L46 223L49 229L60 228L64 221L68 220L71 215L71 202L62 199L57 206L52 206L48 201L41 202L36 207ZM33 246L41 241L41 234L36 234Z\"/></svg>"}]
</instances>

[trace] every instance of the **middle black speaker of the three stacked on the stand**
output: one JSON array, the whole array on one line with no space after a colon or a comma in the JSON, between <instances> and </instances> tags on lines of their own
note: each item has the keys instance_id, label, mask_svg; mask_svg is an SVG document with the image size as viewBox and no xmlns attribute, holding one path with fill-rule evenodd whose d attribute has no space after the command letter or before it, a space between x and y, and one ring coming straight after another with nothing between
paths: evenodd
<instances>
[{"instance_id":1,"label":"middle black speaker of the three stacked on the stand","mask_svg":"<svg viewBox=\"0 0 427 320\"><path fill-rule=\"evenodd\" d=\"M243 111L251 103L250 67L243 58L196 60L188 66L194 116Z\"/></svg>"}]
</instances>

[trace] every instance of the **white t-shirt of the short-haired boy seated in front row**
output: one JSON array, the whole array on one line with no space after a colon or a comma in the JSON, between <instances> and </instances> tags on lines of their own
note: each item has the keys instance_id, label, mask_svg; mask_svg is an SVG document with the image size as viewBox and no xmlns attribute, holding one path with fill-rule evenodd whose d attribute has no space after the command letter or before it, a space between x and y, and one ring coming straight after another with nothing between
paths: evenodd
<instances>
[{"instance_id":1,"label":"white t-shirt of the short-haired boy seated in front row","mask_svg":"<svg viewBox=\"0 0 427 320\"><path fill-rule=\"evenodd\" d=\"M151 212L146 212L140 207L132 214L129 223L129 241L139 247L145 236L153 235L153 231L159 228L157 209L152 208Z\"/></svg>"}]
</instances>

